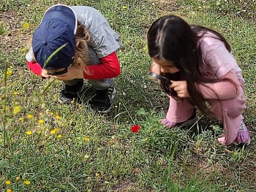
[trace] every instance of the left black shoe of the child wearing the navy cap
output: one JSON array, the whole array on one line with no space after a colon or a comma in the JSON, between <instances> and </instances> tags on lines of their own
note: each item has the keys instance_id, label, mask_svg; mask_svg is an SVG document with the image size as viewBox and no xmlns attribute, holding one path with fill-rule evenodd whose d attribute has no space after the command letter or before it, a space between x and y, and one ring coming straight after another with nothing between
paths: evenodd
<instances>
[{"instance_id":1,"label":"left black shoe of the child wearing the navy cap","mask_svg":"<svg viewBox=\"0 0 256 192\"><path fill-rule=\"evenodd\" d=\"M69 104L72 101L78 99L78 92L83 87L83 81L78 82L75 85L65 84L64 90L61 91L59 101L62 103Z\"/></svg>"}]
</instances>

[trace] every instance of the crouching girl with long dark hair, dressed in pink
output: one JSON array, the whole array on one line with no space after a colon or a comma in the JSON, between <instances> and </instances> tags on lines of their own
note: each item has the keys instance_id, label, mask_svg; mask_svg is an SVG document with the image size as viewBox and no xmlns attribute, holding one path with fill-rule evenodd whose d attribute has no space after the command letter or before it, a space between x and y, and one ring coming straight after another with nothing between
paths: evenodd
<instances>
[{"instance_id":1,"label":"crouching girl with long dark hair, dressed in pink","mask_svg":"<svg viewBox=\"0 0 256 192\"><path fill-rule=\"evenodd\" d=\"M170 98L167 127L195 123L196 107L223 123L223 145L249 144L243 116L244 79L226 39L210 28L189 25L176 15L157 19L149 28L148 54L151 72L170 81L161 81Z\"/></svg>"}]
</instances>

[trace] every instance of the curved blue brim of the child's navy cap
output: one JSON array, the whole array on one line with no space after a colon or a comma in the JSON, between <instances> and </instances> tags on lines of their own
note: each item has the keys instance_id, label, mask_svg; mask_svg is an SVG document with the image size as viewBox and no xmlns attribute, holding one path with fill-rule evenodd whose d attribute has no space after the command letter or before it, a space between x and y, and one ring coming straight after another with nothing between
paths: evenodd
<instances>
[{"instance_id":1,"label":"curved blue brim of the child's navy cap","mask_svg":"<svg viewBox=\"0 0 256 192\"><path fill-rule=\"evenodd\" d=\"M78 26L78 19L75 15L75 12L64 4L56 4L50 7L46 12L45 15L42 18L42 22L46 20L63 20L65 23L67 23L70 28L74 30L74 34L77 31Z\"/></svg>"}]
</instances>

